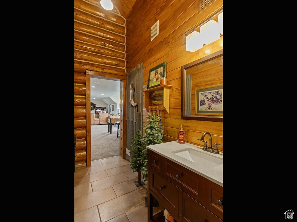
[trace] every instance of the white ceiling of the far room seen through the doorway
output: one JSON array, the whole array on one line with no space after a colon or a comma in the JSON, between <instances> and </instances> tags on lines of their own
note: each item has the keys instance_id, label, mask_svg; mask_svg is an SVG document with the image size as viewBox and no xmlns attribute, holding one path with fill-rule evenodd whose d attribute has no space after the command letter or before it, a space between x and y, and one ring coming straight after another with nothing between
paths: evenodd
<instances>
[{"instance_id":1,"label":"white ceiling of the far room seen through the doorway","mask_svg":"<svg viewBox=\"0 0 297 222\"><path fill-rule=\"evenodd\" d=\"M120 98L120 85L120 81L91 78L91 99L95 98L98 100L102 100L109 97ZM93 88L92 86L95 86L95 88Z\"/></svg>"}]
</instances>

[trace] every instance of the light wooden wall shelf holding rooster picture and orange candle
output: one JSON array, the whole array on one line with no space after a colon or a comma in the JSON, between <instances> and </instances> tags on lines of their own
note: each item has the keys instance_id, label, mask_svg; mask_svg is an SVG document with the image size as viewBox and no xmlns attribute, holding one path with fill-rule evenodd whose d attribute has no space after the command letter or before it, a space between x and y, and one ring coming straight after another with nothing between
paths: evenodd
<instances>
[{"instance_id":1,"label":"light wooden wall shelf holding rooster picture and orange candle","mask_svg":"<svg viewBox=\"0 0 297 222\"><path fill-rule=\"evenodd\" d=\"M144 93L144 107L146 108L146 110L149 110L149 108L151 108L151 110L154 110L154 108L160 108L162 107L163 110L165 110L166 112L168 112L169 114L169 95L170 95L170 88L172 86L171 85L162 85L162 86L157 86L157 87L154 87L154 88L151 88L151 89L146 89L146 90L143 90L142 92ZM150 106L149 105L149 93L150 92L154 92L154 91L157 91L157 90L160 90L160 89L163 89L163 105L160 105L160 106Z\"/></svg>"}]
</instances>

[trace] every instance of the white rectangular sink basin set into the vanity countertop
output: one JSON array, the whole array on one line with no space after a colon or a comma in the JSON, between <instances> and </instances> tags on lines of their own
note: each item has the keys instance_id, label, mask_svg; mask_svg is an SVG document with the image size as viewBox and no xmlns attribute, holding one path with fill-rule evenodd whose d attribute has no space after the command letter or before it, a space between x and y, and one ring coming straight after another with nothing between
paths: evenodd
<instances>
[{"instance_id":1,"label":"white rectangular sink basin set into the vanity countertop","mask_svg":"<svg viewBox=\"0 0 297 222\"><path fill-rule=\"evenodd\" d=\"M211 169L218 165L223 164L223 159L219 157L215 157L213 155L208 155L206 153L203 153L200 150L192 149L192 148L185 148L173 151L175 155L178 155L180 157L183 157L187 160L190 160L194 163L197 163L198 165L201 165L205 168ZM219 154L216 154L219 155Z\"/></svg>"}]
</instances>

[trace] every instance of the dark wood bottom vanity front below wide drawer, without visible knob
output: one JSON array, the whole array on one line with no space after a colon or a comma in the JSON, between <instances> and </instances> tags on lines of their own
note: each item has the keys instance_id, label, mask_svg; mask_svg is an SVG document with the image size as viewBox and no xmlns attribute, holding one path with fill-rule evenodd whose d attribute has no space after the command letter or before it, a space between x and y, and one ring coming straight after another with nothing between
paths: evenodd
<instances>
[{"instance_id":1,"label":"dark wood bottom vanity front below wide drawer, without visible knob","mask_svg":"<svg viewBox=\"0 0 297 222\"><path fill-rule=\"evenodd\" d=\"M222 222L220 218L211 213L200 203L183 192L183 222Z\"/></svg>"}]
</instances>

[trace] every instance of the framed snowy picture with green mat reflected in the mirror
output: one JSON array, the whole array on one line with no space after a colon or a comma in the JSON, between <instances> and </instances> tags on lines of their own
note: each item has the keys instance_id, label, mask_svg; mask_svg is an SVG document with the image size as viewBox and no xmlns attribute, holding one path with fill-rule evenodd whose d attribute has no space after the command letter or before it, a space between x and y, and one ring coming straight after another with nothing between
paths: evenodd
<instances>
[{"instance_id":1,"label":"framed snowy picture with green mat reflected in the mirror","mask_svg":"<svg viewBox=\"0 0 297 222\"><path fill-rule=\"evenodd\" d=\"M196 114L223 114L223 86L195 89Z\"/></svg>"}]
</instances>

